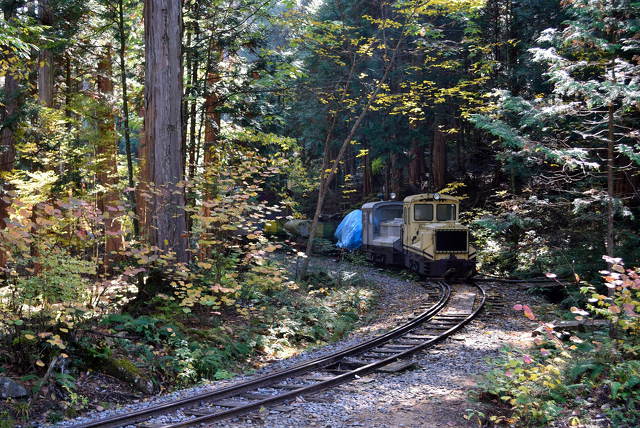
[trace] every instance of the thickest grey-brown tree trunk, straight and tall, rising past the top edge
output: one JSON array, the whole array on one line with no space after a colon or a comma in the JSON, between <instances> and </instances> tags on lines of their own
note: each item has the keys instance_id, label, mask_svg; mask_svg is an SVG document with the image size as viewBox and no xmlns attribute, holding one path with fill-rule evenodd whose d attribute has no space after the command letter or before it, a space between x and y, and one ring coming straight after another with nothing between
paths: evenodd
<instances>
[{"instance_id":1,"label":"thickest grey-brown tree trunk, straight and tall, rising past the top edge","mask_svg":"<svg viewBox=\"0 0 640 428\"><path fill-rule=\"evenodd\" d=\"M182 3L145 0L145 110L143 179L151 245L188 261L182 145Z\"/></svg>"}]
</instances>

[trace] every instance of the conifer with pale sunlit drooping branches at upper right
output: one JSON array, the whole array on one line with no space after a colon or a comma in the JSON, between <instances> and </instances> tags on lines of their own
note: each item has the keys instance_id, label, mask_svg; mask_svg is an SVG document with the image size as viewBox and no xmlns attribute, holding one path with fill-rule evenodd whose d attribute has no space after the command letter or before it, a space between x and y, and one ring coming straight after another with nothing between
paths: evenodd
<instances>
[{"instance_id":1,"label":"conifer with pale sunlit drooping branches at upper right","mask_svg":"<svg viewBox=\"0 0 640 428\"><path fill-rule=\"evenodd\" d=\"M503 159L537 164L543 175L536 180L553 183L545 192L562 192L566 184L574 195L580 189L574 212L606 212L602 241L613 257L614 218L623 203L615 191L624 172L618 165L638 141L640 6L626 0L565 5L566 26L545 30L540 46L530 49L547 67L551 93L525 99L502 92L499 110L474 122L501 139Z\"/></svg>"}]
</instances>

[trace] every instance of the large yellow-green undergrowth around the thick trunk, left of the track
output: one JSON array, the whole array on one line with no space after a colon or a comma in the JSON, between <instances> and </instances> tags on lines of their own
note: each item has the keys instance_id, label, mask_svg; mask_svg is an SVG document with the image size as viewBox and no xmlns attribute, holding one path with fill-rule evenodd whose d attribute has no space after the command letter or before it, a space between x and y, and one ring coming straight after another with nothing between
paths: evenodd
<instances>
[{"instance_id":1,"label":"large yellow-green undergrowth around the thick trunk, left of the track","mask_svg":"<svg viewBox=\"0 0 640 428\"><path fill-rule=\"evenodd\" d=\"M104 371L117 363L156 386L172 387L228 377L267 352L276 338L307 344L268 331L276 319L268 305L304 306L282 297L292 284L268 262L282 245L263 232L266 220L290 212L286 198L278 198L278 205L274 195L286 193L282 183L290 172L287 153L297 150L294 140L248 135L239 127L221 135L234 144L185 183L190 260L178 263L133 227L136 219L145 220L136 218L127 194L135 191L146 200L159 190L127 188L124 179L97 183L102 166L87 163L94 147L84 139L80 146L70 144L78 130L65 126L64 117L47 122L57 124L55 132L34 135L33 144L18 148L23 160L46 168L2 177L11 185L3 188L8 218L0 227L0 370L22 376L35 391L29 403L49 401L53 391L56 411L71 416L86 408L75 378L87 369ZM240 141L246 144L235 144ZM73 152L89 181L63 174L65 162L57 157L62 151ZM286 310L292 325L302 318L297 309ZM305 323L316 315L306 314ZM327 337L305 334L314 342ZM9 409L16 417L2 406L0 412Z\"/></svg>"}]
</instances>

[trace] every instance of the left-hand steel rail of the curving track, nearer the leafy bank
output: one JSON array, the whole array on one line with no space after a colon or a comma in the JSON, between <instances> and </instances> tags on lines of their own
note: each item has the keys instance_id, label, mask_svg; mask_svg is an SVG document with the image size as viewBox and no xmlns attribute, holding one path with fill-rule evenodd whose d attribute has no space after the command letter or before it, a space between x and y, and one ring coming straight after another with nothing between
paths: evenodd
<instances>
[{"instance_id":1,"label":"left-hand steel rail of the curving track, nearer the leafy bank","mask_svg":"<svg viewBox=\"0 0 640 428\"><path fill-rule=\"evenodd\" d=\"M447 302L449 301L449 298L451 296L451 288L444 281L439 281L439 282L436 282L435 284L440 288L440 297L435 304L433 304L429 309L425 310L424 312L419 314L417 317L415 317L411 321L399 327L396 327L385 334L376 336L370 340L364 341L357 345L353 345L349 348L343 349L336 353L326 355L323 357L318 357L311 361L307 361L290 368L282 369L274 373L266 374L256 379L248 380L236 385L224 387L215 391L199 393L187 398L173 400L167 403L159 403L157 405L152 405L147 408L136 410L133 412L126 412L126 413L109 416L109 417L98 419L91 422L71 425L71 428L94 428L94 427L111 428L111 427L120 427L120 426L135 424L138 422L152 419L155 416L171 413L176 410L193 408L205 402L212 402L212 401L222 400L224 398L228 398L232 396L237 396L243 392L247 392L247 391L254 390L256 388L272 385L277 381L292 377L294 375L300 375L305 372L330 366L333 363L339 362L340 360L346 357L356 355L356 354L361 354L364 351L375 348L378 345L389 342L390 340L393 340L395 338L398 338L404 335L406 332L415 329L420 324L424 323L425 321L428 321L429 319L437 315L438 312L440 312L442 308L444 308ZM385 361L386 360L392 361L397 358L398 358L397 356L394 356L394 357L385 359ZM388 364L388 362L386 364ZM380 364L376 364L375 367L372 369L372 371L379 366ZM359 374L356 373L356 375L359 375ZM338 376L337 378L342 379L342 376ZM350 378L348 380L350 380ZM343 380L339 383L343 383L348 380ZM321 383L321 384L324 385L324 383ZM333 385L333 383L327 386L331 386L331 385ZM292 392L295 393L296 391L292 391ZM300 393L297 393L297 394L285 393L285 394L278 395L276 397L283 397L281 400L277 400L277 401L283 401L288 399L290 395L295 396L299 394ZM266 399L266 400L260 400L260 401L254 402L253 404L259 404L258 406L259 408L264 405L271 404L272 402L275 402L275 401L272 401L271 399ZM247 411L253 410L253 408L255 408L255 406L247 406L247 408L246 409L243 408L243 410L247 412ZM235 414L234 411L237 411L237 410L238 408L234 408L227 412L222 412L222 413L225 413L226 415L230 416L231 414ZM228 416L225 416L225 417L228 417ZM176 426L182 426L182 425L176 425Z\"/></svg>"}]
</instances>

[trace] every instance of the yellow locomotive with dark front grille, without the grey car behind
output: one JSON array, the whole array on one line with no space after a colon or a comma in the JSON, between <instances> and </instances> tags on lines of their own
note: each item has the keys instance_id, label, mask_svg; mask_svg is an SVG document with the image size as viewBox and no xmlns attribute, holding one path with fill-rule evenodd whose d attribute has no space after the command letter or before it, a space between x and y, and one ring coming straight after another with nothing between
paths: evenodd
<instances>
[{"instance_id":1,"label":"yellow locomotive with dark front grille, without the grey car behind","mask_svg":"<svg viewBox=\"0 0 640 428\"><path fill-rule=\"evenodd\" d=\"M402 248L404 265L427 276L468 276L476 251L469 230L458 222L460 199L426 193L405 198Z\"/></svg>"}]
</instances>

